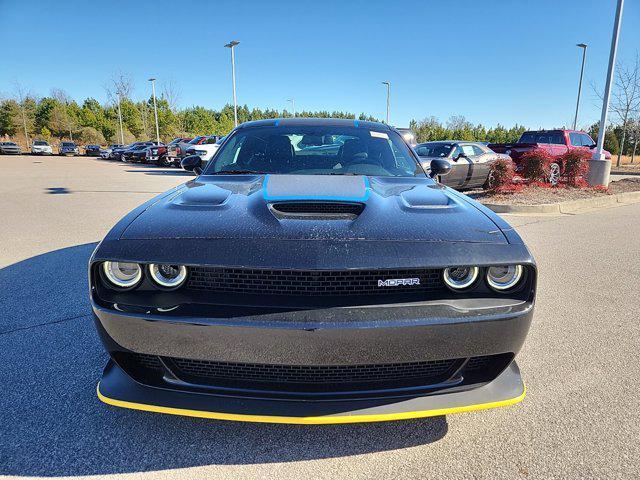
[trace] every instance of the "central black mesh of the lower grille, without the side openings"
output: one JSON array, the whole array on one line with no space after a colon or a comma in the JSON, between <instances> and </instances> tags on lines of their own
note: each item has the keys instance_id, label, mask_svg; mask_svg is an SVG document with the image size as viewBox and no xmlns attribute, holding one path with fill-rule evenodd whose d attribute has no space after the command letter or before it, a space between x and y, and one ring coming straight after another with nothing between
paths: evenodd
<instances>
[{"instance_id":1,"label":"central black mesh of the lower grille, without the side openings","mask_svg":"<svg viewBox=\"0 0 640 480\"><path fill-rule=\"evenodd\" d=\"M459 360L375 365L269 365L172 358L178 376L202 380L233 379L265 383L335 384L410 378L433 379L450 372Z\"/></svg>"}]
</instances>

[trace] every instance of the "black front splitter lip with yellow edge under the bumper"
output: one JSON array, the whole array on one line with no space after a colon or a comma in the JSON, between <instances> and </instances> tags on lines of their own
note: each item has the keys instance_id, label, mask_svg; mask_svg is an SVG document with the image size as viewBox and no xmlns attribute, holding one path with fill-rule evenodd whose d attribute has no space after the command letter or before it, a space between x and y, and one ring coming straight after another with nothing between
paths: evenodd
<instances>
[{"instance_id":1,"label":"black front splitter lip with yellow edge under the bumper","mask_svg":"<svg viewBox=\"0 0 640 480\"><path fill-rule=\"evenodd\" d=\"M321 425L407 420L504 407L521 402L526 389L514 360L492 382L465 391L402 399L253 399L142 385L109 361L97 392L106 404L134 410L215 420Z\"/></svg>"}]
</instances>

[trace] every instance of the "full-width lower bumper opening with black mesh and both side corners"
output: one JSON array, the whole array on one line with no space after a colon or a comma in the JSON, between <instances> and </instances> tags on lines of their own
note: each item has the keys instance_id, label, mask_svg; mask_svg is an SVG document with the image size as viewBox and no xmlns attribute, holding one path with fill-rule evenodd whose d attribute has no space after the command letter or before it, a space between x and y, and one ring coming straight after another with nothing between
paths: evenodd
<instances>
[{"instance_id":1,"label":"full-width lower bumper opening with black mesh and both side corners","mask_svg":"<svg viewBox=\"0 0 640 480\"><path fill-rule=\"evenodd\" d=\"M161 386L167 373L164 362L171 377L191 385L238 391L313 394L393 391L427 387L454 378L462 378L464 384L487 382L511 363L513 354L367 365L274 365L173 357L162 357L161 362L155 355L125 352L115 353L114 358L127 373L142 383Z\"/></svg>"}]
</instances>

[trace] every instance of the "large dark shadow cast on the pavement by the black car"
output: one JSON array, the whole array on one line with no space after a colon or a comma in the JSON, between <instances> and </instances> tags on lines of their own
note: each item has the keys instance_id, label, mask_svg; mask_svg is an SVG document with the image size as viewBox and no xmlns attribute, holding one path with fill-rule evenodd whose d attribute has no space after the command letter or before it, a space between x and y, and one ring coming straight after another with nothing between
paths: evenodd
<instances>
[{"instance_id":1,"label":"large dark shadow cast on the pavement by the black car","mask_svg":"<svg viewBox=\"0 0 640 480\"><path fill-rule=\"evenodd\" d=\"M222 422L100 403L107 361L86 265L95 243L0 269L0 476L79 476L343 457L435 442L445 417L297 426Z\"/></svg>"}]
</instances>

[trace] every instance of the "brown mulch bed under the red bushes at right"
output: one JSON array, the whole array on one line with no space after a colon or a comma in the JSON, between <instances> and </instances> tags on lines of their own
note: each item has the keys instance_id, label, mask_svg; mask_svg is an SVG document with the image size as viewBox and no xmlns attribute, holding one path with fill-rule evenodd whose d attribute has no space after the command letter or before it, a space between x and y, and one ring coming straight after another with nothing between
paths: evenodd
<instances>
[{"instance_id":1,"label":"brown mulch bed under the red bushes at right","mask_svg":"<svg viewBox=\"0 0 640 480\"><path fill-rule=\"evenodd\" d=\"M543 203L559 203L582 198L613 195L624 192L640 191L640 178L623 179L611 182L608 190L596 188L556 187L544 188L528 186L516 193L489 193L481 190L465 192L471 198L498 205L541 205Z\"/></svg>"}]
</instances>

